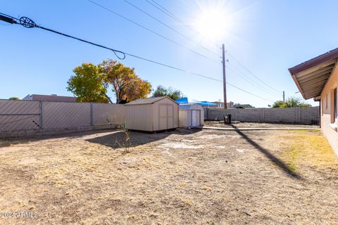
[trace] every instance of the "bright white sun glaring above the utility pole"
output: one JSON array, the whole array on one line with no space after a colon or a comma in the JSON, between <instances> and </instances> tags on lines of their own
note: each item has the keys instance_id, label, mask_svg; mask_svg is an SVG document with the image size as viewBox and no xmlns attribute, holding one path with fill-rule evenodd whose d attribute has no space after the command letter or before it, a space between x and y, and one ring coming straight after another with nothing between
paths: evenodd
<instances>
[{"instance_id":1,"label":"bright white sun glaring above the utility pole","mask_svg":"<svg viewBox=\"0 0 338 225\"><path fill-rule=\"evenodd\" d=\"M204 8L195 23L196 30L208 39L216 41L229 29L230 21L223 8Z\"/></svg>"}]
</instances>

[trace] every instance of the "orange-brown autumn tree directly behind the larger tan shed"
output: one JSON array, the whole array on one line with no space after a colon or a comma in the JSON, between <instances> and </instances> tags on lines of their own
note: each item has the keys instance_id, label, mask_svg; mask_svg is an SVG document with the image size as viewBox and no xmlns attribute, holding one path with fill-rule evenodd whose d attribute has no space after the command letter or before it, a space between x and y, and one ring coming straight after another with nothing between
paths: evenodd
<instances>
[{"instance_id":1,"label":"orange-brown autumn tree directly behind the larger tan shed","mask_svg":"<svg viewBox=\"0 0 338 225\"><path fill-rule=\"evenodd\" d=\"M115 60L104 60L99 65L104 75L105 86L112 86L116 103L126 103L137 98L146 98L151 92L151 84L134 72L134 68L125 67Z\"/></svg>"}]
</instances>

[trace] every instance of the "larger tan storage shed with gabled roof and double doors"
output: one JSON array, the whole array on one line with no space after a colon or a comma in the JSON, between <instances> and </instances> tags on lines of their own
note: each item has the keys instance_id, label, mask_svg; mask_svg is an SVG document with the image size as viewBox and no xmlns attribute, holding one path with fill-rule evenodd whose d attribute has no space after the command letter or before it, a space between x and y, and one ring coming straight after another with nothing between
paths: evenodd
<instances>
[{"instance_id":1,"label":"larger tan storage shed with gabled roof and double doors","mask_svg":"<svg viewBox=\"0 0 338 225\"><path fill-rule=\"evenodd\" d=\"M168 97L140 98L125 104L125 127L163 131L178 127L178 104Z\"/></svg>"}]
</instances>

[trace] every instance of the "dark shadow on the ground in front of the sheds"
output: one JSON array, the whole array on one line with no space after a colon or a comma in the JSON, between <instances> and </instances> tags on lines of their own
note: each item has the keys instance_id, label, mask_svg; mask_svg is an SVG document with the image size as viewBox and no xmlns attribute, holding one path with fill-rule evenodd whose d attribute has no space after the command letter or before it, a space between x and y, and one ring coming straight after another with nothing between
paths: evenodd
<instances>
[{"instance_id":1,"label":"dark shadow on the ground in front of the sheds","mask_svg":"<svg viewBox=\"0 0 338 225\"><path fill-rule=\"evenodd\" d=\"M123 130L113 132L104 136L97 136L91 139L86 139L91 143L99 143L111 148L125 148L144 145L154 141L165 139L171 134L187 135L194 134L201 131L201 129L176 129L175 131L161 131L156 134L151 134L141 131L130 131L126 134ZM129 138L129 139L128 139Z\"/></svg>"}]
</instances>

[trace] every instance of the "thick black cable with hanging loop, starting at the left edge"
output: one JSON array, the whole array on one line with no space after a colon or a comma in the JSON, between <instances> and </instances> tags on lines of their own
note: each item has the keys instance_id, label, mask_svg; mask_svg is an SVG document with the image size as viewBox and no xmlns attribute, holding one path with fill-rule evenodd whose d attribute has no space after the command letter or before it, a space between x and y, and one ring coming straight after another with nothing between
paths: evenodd
<instances>
[{"instance_id":1,"label":"thick black cable with hanging loop, starting at the left edge","mask_svg":"<svg viewBox=\"0 0 338 225\"><path fill-rule=\"evenodd\" d=\"M113 52L115 53L115 56L117 56L118 58L120 58L120 57L118 56L117 53L121 53L121 54L123 54L123 58L120 58L120 59L122 59L122 60L125 59L125 56L131 56L131 57L134 57L134 58L138 58L138 59L141 59L141 60L145 60L145 61L147 61L147 62L149 62L149 63L154 63L154 64L157 64L157 65L162 65L162 66L164 66L164 67L166 67L166 68L171 68L171 69L173 69L173 70L178 70L178 71L180 71L180 72L185 72L185 73L190 74L190 75L195 75L195 76L199 76L199 77L204 77L204 78L206 78L206 79L211 79L211 80L214 80L214 81L217 81L217 82L223 82L223 80L221 80L221 79L215 79L215 78L213 78L213 77L208 77L207 75L201 75L201 74L196 73L196 72L189 72L188 70L184 70L184 69L182 69L182 68L177 68L177 67L175 67L175 66L173 66L173 65L168 65L168 64L165 64L165 63L160 63L160 62L157 62L157 61L155 61L155 60L151 60L151 59L149 59L149 58L144 58L144 57L142 57L142 56L137 56L137 55L134 55L134 54L132 54L132 53L127 53L127 52L125 52L125 51L120 51L120 50L116 50L116 49L111 49L111 48L108 48L108 47L106 47L106 46L102 46L102 45L100 45L100 44L95 44L95 43L92 42L92 41L86 41L86 40L84 40L84 39L80 39L80 38L77 38L77 37L73 37L73 36L71 36L71 35L64 34L64 33L62 33L62 32L58 32L58 31L56 31L56 30L51 30L51 29L49 29L49 28L46 28L46 27L42 27L42 26L40 26L40 25L37 25L33 20L31 20L30 18L27 18L27 17L21 17L20 19L18 19L18 18L14 18L14 17L12 17L12 16L10 16L10 15L6 15L7 18L4 18L4 17L1 16L1 15L6 15L6 14L0 13L0 20L3 20L3 21L5 21L5 22L7 22L7 23L23 25L23 27L26 27L26 28L35 28L35 27L37 27L37 28L40 28L40 29L42 29L42 30L46 30L46 31L49 31L49 32L54 32L55 34L60 34L60 35L65 36L65 37L69 37L69 38L72 38L72 39L76 39L76 40L78 40L78 41L85 42L85 43L87 43L87 44L92 44L92 45L94 45L94 46L98 46L98 47L101 47L101 48L104 48L104 49L108 49L108 50L113 51ZM239 88L238 86L234 86L233 84L230 84L229 82L226 82L226 83L227 83L228 85L234 87L235 89L239 89L239 90L241 90L241 91L244 91L244 92L247 93L247 94L250 94L250 95L252 95L252 96L256 96L257 98L261 98L261 99L263 99L263 100L265 100L265 101L271 101L270 99L263 98L263 97L258 96L258 95L256 95L256 94L253 94L253 93L251 93L251 92L249 92L249 91L246 91L246 90L244 90L244 89L241 89L241 88ZM271 102L273 102L273 101L271 101Z\"/></svg>"}]
</instances>

